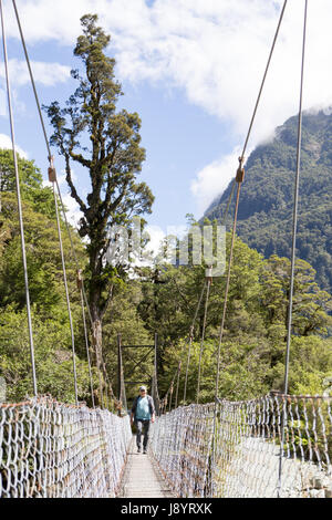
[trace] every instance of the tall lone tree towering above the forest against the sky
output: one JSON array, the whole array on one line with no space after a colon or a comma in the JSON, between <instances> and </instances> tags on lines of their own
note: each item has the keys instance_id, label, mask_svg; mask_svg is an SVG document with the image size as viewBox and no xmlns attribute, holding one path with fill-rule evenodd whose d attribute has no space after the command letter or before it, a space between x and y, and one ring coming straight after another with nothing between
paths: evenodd
<instances>
[{"instance_id":1,"label":"tall lone tree towering above the forest against the sky","mask_svg":"<svg viewBox=\"0 0 332 520\"><path fill-rule=\"evenodd\" d=\"M103 316L116 277L123 274L121 266L115 269L106 262L107 231L113 225L127 226L133 217L151 212L154 197L145 183L136 181L145 159L138 114L116 111L123 92L114 77L115 60L104 52L111 37L97 27L96 14L85 14L81 23L83 34L77 38L74 55L83 67L72 71L79 86L64 107L53 102L46 112L54 128L51 144L64 157L70 193L83 214L79 232L89 242L89 300L98 357ZM90 146L84 146L86 136ZM89 171L86 200L73 181L73 164Z\"/></svg>"}]
</instances>

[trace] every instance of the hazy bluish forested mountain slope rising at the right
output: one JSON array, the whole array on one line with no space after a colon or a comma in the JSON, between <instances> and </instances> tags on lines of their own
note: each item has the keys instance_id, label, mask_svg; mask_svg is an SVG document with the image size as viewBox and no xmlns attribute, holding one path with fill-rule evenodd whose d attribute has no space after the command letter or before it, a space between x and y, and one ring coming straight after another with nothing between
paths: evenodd
<instances>
[{"instance_id":1,"label":"hazy bluish forested mountain slope rising at the right","mask_svg":"<svg viewBox=\"0 0 332 520\"><path fill-rule=\"evenodd\" d=\"M263 253L290 258L297 117L258 146L246 165L238 235ZM206 211L221 219L230 186ZM297 254L317 270L321 287L332 288L332 114L304 113ZM231 211L230 211L231 214Z\"/></svg>"}]
</instances>

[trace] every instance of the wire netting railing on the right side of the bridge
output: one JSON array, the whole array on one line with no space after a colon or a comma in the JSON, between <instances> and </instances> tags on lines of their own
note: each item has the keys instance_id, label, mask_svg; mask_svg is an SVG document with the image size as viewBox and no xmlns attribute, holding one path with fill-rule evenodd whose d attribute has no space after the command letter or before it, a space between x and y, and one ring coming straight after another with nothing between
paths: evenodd
<instances>
[{"instance_id":1,"label":"wire netting railing on the right side of the bridge","mask_svg":"<svg viewBox=\"0 0 332 520\"><path fill-rule=\"evenodd\" d=\"M156 420L153 455L178 497L331 497L331 402L271 394L179 407Z\"/></svg>"}]
</instances>

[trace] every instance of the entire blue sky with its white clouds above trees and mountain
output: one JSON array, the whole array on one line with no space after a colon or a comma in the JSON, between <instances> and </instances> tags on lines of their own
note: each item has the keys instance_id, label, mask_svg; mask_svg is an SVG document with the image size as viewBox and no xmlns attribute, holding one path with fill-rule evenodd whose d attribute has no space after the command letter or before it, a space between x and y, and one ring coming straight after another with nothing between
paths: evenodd
<instances>
[{"instance_id":1,"label":"entire blue sky with its white clouds above trees and mountain","mask_svg":"<svg viewBox=\"0 0 332 520\"><path fill-rule=\"evenodd\" d=\"M332 104L329 0L309 2L304 107ZM156 196L148 222L166 231L200 218L235 175L282 1L17 0L42 103L73 91L69 71L80 17L100 14L112 34L122 104L142 117L147 152L141 178ZM289 0L249 148L297 112L304 1ZM4 2L18 146L46 171L46 152L11 2ZM1 58L2 61L2 58ZM9 146L3 66L0 146ZM49 127L49 133L51 128ZM63 162L55 155L61 175ZM86 180L77 181L82 194ZM66 194L65 184L62 190ZM66 197L71 211L74 205Z\"/></svg>"}]
</instances>

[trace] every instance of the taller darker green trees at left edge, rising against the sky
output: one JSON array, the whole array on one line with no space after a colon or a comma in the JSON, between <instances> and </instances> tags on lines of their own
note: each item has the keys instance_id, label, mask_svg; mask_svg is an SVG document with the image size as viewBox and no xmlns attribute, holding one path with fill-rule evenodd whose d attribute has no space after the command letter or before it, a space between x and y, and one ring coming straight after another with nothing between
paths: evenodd
<instances>
[{"instance_id":1,"label":"taller darker green trees at left edge, rising against the sky","mask_svg":"<svg viewBox=\"0 0 332 520\"><path fill-rule=\"evenodd\" d=\"M41 188L41 191L43 188ZM38 188L34 189L38 199ZM31 194L29 195L31 197ZM24 238L31 301L39 312L51 312L63 299L62 263L59 249L55 216L53 218L35 209L34 200L23 200ZM54 205L54 202L53 202ZM39 208L40 209L40 208ZM3 193L0 232L3 237L0 263L0 302L1 305L25 304L25 289L22 268L21 237L14 194ZM75 270L70 259L70 241L64 232L68 274L71 285L75 280ZM80 258L84 249L73 232L73 241ZM1 240L0 240L1 253Z\"/></svg>"}]
</instances>

